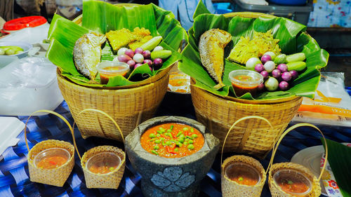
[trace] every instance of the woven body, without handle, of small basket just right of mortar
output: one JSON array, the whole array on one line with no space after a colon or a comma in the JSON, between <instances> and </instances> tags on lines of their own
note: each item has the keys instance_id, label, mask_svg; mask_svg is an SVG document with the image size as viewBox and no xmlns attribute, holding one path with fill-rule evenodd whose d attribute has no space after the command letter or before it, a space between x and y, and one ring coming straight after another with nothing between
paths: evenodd
<instances>
[{"instance_id":1,"label":"woven body, without handle, of small basket just right of mortar","mask_svg":"<svg viewBox=\"0 0 351 197\"><path fill-rule=\"evenodd\" d=\"M237 182L228 179L228 177L225 176L225 168L227 168L227 166L231 163L237 162L247 163L253 168L256 168L258 172L260 172L260 177L262 177L260 182L255 186L246 186L237 184ZM231 156L225 159L221 167L222 195L223 197L259 197L261 196L265 179L265 169L263 169L259 161L249 156Z\"/></svg>"}]
</instances>

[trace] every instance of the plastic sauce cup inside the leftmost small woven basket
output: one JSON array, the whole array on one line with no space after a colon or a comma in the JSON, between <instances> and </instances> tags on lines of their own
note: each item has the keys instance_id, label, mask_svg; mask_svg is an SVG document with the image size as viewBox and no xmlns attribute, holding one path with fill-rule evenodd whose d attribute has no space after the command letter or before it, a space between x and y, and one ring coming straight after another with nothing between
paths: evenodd
<instances>
[{"instance_id":1,"label":"plastic sauce cup inside the leftmost small woven basket","mask_svg":"<svg viewBox=\"0 0 351 197\"><path fill-rule=\"evenodd\" d=\"M53 169L59 168L69 161L71 154L69 151L62 148L50 148L41 151L34 157L34 165L37 168Z\"/></svg>"}]
</instances>

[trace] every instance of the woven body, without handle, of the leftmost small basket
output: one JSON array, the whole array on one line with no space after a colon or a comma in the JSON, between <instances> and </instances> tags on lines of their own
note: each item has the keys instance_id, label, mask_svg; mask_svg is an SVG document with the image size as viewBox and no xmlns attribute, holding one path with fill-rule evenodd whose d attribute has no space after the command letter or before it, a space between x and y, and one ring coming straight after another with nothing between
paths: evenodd
<instances>
[{"instance_id":1,"label":"woven body, without handle, of the leftmost small basket","mask_svg":"<svg viewBox=\"0 0 351 197\"><path fill-rule=\"evenodd\" d=\"M39 154L41 151L50 148L62 148L69 151L71 157L64 165L61 165L58 168L44 170L37 168L34 165L34 157ZM72 172L74 166L74 147L72 144L60 140L45 140L35 144L35 146L29 151L28 154L28 168L29 176L32 182L39 182L43 184L50 184L53 186L63 186L67 178Z\"/></svg>"}]
</instances>

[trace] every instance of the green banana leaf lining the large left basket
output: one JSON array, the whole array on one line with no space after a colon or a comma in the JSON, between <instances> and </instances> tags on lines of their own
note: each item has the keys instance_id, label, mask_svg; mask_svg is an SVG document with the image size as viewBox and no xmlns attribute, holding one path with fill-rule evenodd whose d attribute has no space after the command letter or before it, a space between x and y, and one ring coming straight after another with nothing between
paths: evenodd
<instances>
[{"instance_id":1,"label":"green banana leaf lining the large left basket","mask_svg":"<svg viewBox=\"0 0 351 197\"><path fill-rule=\"evenodd\" d=\"M139 83L181 60L182 56L178 53L178 49L183 40L187 41L187 32L180 26L180 22L174 18L173 13L154 4L114 6L103 1L84 0L81 20L81 25L77 25L60 15L54 15L48 31L48 39L51 40L51 45L46 53L46 57L62 69L62 76L66 76L81 86L101 88L105 86L129 86ZM151 72L147 64L144 64L126 76L127 79L122 76L115 76L110 78L106 85L88 83L89 79L80 74L74 66L73 48L77 39L88 32L105 34L110 30L122 28L133 30L135 27L149 29L152 36L161 35L163 40L159 45L166 50L171 50L171 57L168 57L163 66L157 71ZM113 60L114 57L116 55L112 53L108 43L105 44L102 48L101 60ZM95 81L100 82L99 75Z\"/></svg>"}]
</instances>

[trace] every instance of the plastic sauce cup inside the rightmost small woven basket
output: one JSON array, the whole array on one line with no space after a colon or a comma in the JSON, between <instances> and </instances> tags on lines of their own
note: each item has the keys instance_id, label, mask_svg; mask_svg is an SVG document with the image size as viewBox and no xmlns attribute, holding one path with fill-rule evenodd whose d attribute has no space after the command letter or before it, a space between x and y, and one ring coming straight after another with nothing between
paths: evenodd
<instances>
[{"instance_id":1,"label":"plastic sauce cup inside the rightmost small woven basket","mask_svg":"<svg viewBox=\"0 0 351 197\"><path fill-rule=\"evenodd\" d=\"M307 196L312 190L310 179L298 170L282 169L273 175L274 182L282 191L292 196Z\"/></svg>"}]
</instances>

